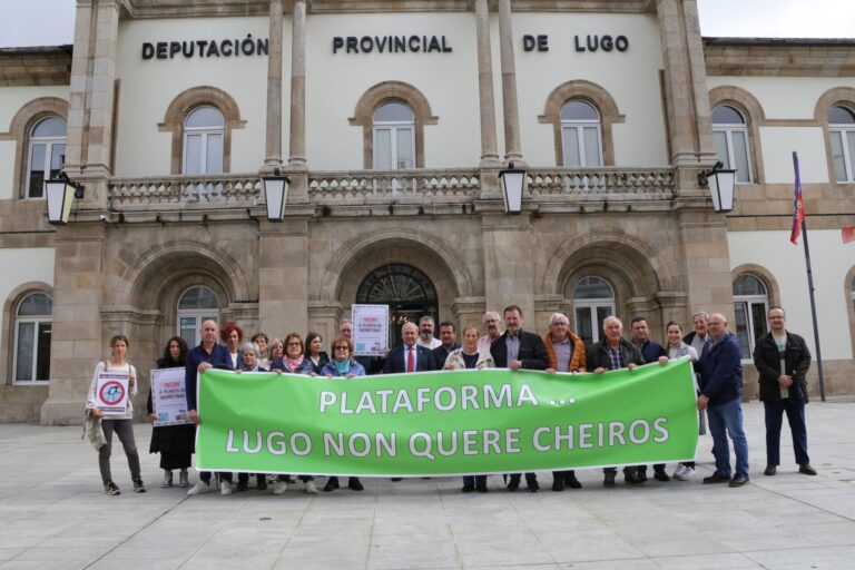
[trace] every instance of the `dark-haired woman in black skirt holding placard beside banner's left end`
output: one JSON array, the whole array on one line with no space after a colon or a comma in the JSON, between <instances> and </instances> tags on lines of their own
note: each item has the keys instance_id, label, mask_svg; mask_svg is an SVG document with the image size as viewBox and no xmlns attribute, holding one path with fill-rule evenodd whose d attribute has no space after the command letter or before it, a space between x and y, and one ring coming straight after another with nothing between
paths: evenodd
<instances>
[{"instance_id":1,"label":"dark-haired woman in black skirt holding placard beside banner's left end","mask_svg":"<svg viewBox=\"0 0 855 570\"><path fill-rule=\"evenodd\" d=\"M184 370L184 363L187 358L187 342L180 336L173 336L169 342L166 343L164 348L163 358L157 360L158 368L177 368ZM155 424L157 416L155 415L154 402L151 392L148 392L148 402L146 404L148 411L148 421L151 425ZM196 429L193 424L181 425L160 425L155 426L151 430L151 443L149 444L149 453L160 453L160 469L164 470L164 480L160 483L161 488L173 487L173 470L179 469L178 481L180 487L189 487L190 482L187 476L187 468L190 466L193 452L195 448Z\"/></svg>"}]
</instances>

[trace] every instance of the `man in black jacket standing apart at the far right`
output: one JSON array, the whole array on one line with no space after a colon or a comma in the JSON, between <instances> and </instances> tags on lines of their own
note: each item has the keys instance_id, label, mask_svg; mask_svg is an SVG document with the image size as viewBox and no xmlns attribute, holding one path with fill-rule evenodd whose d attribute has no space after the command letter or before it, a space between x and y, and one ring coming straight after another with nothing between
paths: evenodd
<instances>
[{"instance_id":1,"label":"man in black jacket standing apart at the far right","mask_svg":"<svg viewBox=\"0 0 855 570\"><path fill-rule=\"evenodd\" d=\"M805 340L785 328L787 316L779 306L769 308L769 332L754 347L754 365L760 373L760 401L766 411L766 470L774 475L780 464L780 426L784 412L793 433L798 472L815 475L807 456L805 404L810 352Z\"/></svg>"}]
</instances>

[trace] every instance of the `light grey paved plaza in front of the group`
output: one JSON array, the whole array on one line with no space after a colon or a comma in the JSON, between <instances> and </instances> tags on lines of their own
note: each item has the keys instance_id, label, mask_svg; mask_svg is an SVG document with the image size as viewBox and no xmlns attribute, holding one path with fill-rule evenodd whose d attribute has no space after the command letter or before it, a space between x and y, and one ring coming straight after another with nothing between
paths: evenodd
<instances>
[{"instance_id":1,"label":"light grey paved plaza in front of the group","mask_svg":"<svg viewBox=\"0 0 855 570\"><path fill-rule=\"evenodd\" d=\"M245 493L187 497L158 487L138 424L149 491L131 492L116 441L122 493L108 497L80 428L0 425L0 569L854 568L855 403L808 405L818 476L796 473L788 433L778 475L764 476L763 407L745 412L751 482L740 489L700 483L712 471L702 436L696 481L603 489L587 470L582 490L556 493L541 473L537 494L491 476L489 494L461 494L459 479L364 479L362 493L295 484L274 497L250 480Z\"/></svg>"}]
</instances>

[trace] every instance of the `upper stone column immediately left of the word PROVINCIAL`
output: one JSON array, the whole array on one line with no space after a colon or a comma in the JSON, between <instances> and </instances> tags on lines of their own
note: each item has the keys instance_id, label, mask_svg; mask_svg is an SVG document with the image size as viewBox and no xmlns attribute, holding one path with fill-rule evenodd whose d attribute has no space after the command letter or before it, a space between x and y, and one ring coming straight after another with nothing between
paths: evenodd
<instances>
[{"instance_id":1,"label":"upper stone column immediately left of the word PROVINCIAL","mask_svg":"<svg viewBox=\"0 0 855 570\"><path fill-rule=\"evenodd\" d=\"M291 153L288 166L306 167L306 2L294 1L291 38Z\"/></svg>"}]
</instances>

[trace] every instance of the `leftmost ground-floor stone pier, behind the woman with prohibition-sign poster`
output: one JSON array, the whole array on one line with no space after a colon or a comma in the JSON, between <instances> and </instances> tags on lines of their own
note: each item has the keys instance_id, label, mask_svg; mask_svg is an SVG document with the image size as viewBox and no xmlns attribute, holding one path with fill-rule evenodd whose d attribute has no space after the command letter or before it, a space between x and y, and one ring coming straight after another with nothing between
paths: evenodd
<instances>
[{"instance_id":1,"label":"leftmost ground-floor stone pier, behind the woman with prohibition-sign poster","mask_svg":"<svg viewBox=\"0 0 855 570\"><path fill-rule=\"evenodd\" d=\"M57 228L50 394L41 407L42 425L80 423L95 365L109 355L101 337L106 234L104 224Z\"/></svg>"}]
</instances>

